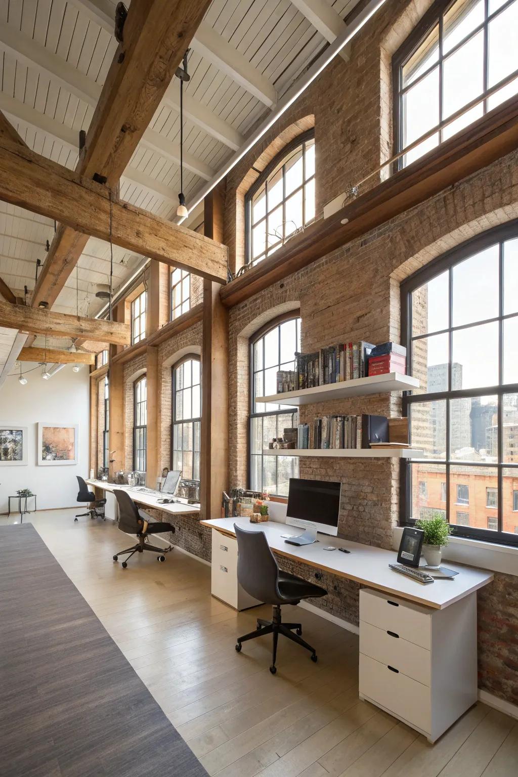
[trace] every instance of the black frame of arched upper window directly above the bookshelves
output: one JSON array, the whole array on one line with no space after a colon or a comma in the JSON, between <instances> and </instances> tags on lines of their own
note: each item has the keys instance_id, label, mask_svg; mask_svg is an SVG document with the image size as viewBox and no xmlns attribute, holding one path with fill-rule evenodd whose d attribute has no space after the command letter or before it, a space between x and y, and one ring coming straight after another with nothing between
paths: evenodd
<instances>
[{"instance_id":1,"label":"black frame of arched upper window directly above the bookshelves","mask_svg":"<svg viewBox=\"0 0 518 777\"><path fill-rule=\"evenodd\" d=\"M273 170L280 164L280 162L283 162L285 160L288 161L288 157L292 155L294 152L297 151L298 148L303 148L303 155L302 155L302 184L301 186L297 186L296 189L294 189L292 192L289 193L289 195L286 195L286 176L285 171L283 169L283 198L280 201L280 203L276 204L275 208L272 209L271 212L273 212L277 207L280 207L282 204L283 206L283 224L286 223L286 200L290 199L290 197L293 197L297 191L302 190L302 221L303 225L302 228L305 228L308 226L308 224L311 224L313 221L315 221L315 216L311 218L309 221L305 220L305 209L306 209L306 198L305 198L305 186L307 183L309 183L311 180L316 181L316 151L315 151L315 172L312 176L309 176L309 178L306 180L305 178L305 144L309 141L315 142L315 127L311 127L311 129L303 132L300 135L297 135L297 138L294 138L293 141L290 141L290 143L287 143L287 145L284 146L284 148L281 148L280 152L274 156L274 158L271 160L271 162L268 163L266 168L261 172L261 174L258 176L257 180L252 183L252 186L250 186L249 190L245 194L245 264L255 263L258 261L258 258L252 260L252 200L256 196L256 193L259 191L259 189L262 187L263 183L266 183L269 176L273 172ZM266 184L266 190L268 186ZM266 191L266 215L268 215L268 199L267 199L267 191ZM262 219L259 219L259 221L262 221ZM259 223L259 222L258 222ZM280 243L280 246L283 246L284 243L290 239L290 237L293 237L293 235L297 234L296 232L292 232L290 235L284 236L284 230L283 230L283 239ZM265 246L265 253L262 260L268 259L269 256L272 255L272 249L278 250L280 247L277 243L275 246L272 246L270 249L268 249L268 246L266 244ZM274 252L273 252L274 253Z\"/></svg>"}]
</instances>

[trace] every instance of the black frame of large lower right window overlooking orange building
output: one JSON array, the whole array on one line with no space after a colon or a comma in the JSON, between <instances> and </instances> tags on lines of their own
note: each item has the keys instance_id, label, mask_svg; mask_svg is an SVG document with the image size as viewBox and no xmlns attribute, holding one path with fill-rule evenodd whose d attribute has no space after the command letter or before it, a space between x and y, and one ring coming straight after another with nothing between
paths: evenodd
<instances>
[{"instance_id":1,"label":"black frame of large lower right window overlooking orange building","mask_svg":"<svg viewBox=\"0 0 518 777\"><path fill-rule=\"evenodd\" d=\"M464 326L473 326L475 324L481 324L486 322L497 321L499 323L499 384L495 386L484 386L478 389L456 389L454 391L443 392L430 392L429 394L415 394L412 392L403 392L402 397L402 415L408 416L408 408L412 402L426 402L426 400L432 401L436 399L458 399L462 397L477 397L486 395L496 395L498 401L498 426L499 429L503 429L503 406L502 397L506 394L518 393L518 383L503 383L503 322L506 319L516 317L516 313L503 314L503 243L509 239L518 238L518 219L508 221L504 225L488 229L486 232L482 232L480 235L466 240L461 245L456 246L454 249L450 249L442 256L437 257L425 267L408 277L400 287L401 294L401 342L407 347L407 371L408 375L412 375L412 291L426 284L429 280L433 280L436 276L443 273L445 270L455 267L458 263L474 256L476 253L483 251L484 249L499 244L499 315L495 319L483 319L481 321L472 322ZM450 272L450 284L449 284L449 315L450 325L452 322L452 302L453 302L453 290ZM458 327L462 328L462 327ZM454 331L457 327L450 327L445 331ZM434 333L435 334L435 333ZM450 353L449 353L449 383L451 385L451 340L450 340ZM446 434L447 434L447 451L450 450L450 414L449 414L449 402L447 402L447 420L446 420ZM455 459L416 459L402 460L400 468L400 517L399 523L402 526L412 526L415 520L409 516L409 511L412 509L412 494L410 493L412 462L419 463L435 463L443 465L446 469L447 477L447 517L450 515L450 468L463 465L469 465L473 467L485 467L497 470L498 476L498 518L499 518L499 531L491 531L489 529L481 529L470 526L455 526L454 533L459 537L467 537L478 539L483 542L495 542L499 545L518 545L518 535L513 535L512 532L501 531L502 518L503 518L503 471L506 469L516 469L516 476L518 476L518 463L503 461L503 434L500 433L498 437L498 460L491 463L478 463L478 462L461 462Z\"/></svg>"}]
</instances>

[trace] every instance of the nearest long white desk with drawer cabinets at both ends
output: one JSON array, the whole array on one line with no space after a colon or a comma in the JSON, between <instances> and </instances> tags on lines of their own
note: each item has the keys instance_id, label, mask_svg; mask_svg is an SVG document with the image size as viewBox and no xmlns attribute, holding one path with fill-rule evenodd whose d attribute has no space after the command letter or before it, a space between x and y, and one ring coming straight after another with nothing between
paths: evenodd
<instances>
[{"instance_id":1,"label":"nearest long white desk with drawer cabinets at both ends","mask_svg":"<svg viewBox=\"0 0 518 777\"><path fill-rule=\"evenodd\" d=\"M354 580L360 590L360 699L381 707L434 742L478 698L477 591L493 575L447 563L454 580L423 585L389 569L397 554L318 535L313 545L288 545L300 528L248 518L200 521L212 531L212 592L238 609L257 604L238 584L234 524L263 531L269 547L315 570ZM324 550L342 545L350 553ZM248 597L248 599L247 599Z\"/></svg>"}]
</instances>

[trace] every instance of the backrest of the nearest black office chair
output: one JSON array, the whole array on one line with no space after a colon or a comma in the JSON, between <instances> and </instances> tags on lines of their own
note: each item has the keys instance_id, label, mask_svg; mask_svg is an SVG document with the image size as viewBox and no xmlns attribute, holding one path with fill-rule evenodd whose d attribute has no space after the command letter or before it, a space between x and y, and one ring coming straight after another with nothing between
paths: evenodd
<instances>
[{"instance_id":1,"label":"backrest of the nearest black office chair","mask_svg":"<svg viewBox=\"0 0 518 777\"><path fill-rule=\"evenodd\" d=\"M247 594L266 605L279 601L279 567L264 531L246 531L234 524L238 538L238 581Z\"/></svg>"}]
</instances>

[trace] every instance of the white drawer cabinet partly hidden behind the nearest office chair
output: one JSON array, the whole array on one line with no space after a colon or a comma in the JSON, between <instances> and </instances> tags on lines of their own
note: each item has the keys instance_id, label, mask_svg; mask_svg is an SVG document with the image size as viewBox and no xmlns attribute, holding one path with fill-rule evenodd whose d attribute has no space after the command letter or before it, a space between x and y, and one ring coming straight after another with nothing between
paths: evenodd
<instances>
[{"instance_id":1,"label":"white drawer cabinet partly hidden behind the nearest office chair","mask_svg":"<svg viewBox=\"0 0 518 777\"><path fill-rule=\"evenodd\" d=\"M260 605L238 583L238 541L220 531L212 531L210 592L236 610Z\"/></svg>"}]
</instances>

